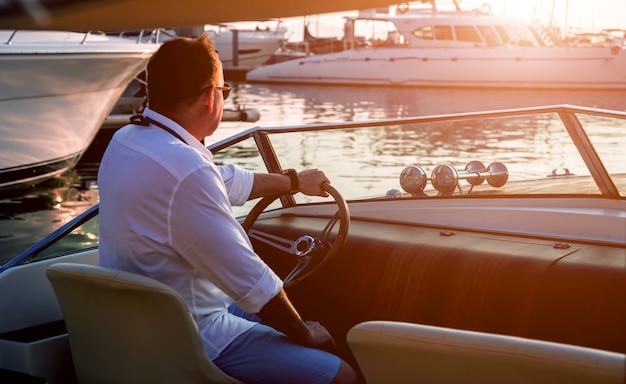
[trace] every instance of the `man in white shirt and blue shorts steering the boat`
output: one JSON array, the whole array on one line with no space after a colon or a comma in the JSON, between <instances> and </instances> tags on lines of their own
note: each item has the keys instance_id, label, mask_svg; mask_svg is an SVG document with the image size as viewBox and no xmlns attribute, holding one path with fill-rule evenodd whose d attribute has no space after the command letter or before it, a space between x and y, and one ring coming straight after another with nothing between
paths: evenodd
<instances>
[{"instance_id":1,"label":"man in white shirt and blue shorts steering the boat","mask_svg":"<svg viewBox=\"0 0 626 384\"><path fill-rule=\"evenodd\" d=\"M288 177L217 167L201 142L217 129L229 91L206 35L169 40L153 56L149 108L114 135L100 163L100 265L177 290L209 358L233 377L353 383L354 370L322 350L332 344L328 331L300 318L231 209L294 189L327 196L328 180L319 170Z\"/></svg>"}]
</instances>

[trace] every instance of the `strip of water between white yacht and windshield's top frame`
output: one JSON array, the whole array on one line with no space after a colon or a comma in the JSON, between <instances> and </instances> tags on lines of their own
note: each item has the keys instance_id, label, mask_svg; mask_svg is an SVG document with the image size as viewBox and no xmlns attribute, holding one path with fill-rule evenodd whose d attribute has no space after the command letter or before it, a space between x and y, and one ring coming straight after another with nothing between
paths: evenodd
<instances>
[{"instance_id":1,"label":"strip of water between white yacht and windshield's top frame","mask_svg":"<svg viewBox=\"0 0 626 384\"><path fill-rule=\"evenodd\" d=\"M554 104L573 104L626 111L626 91L391 88L247 83L235 83L234 87L236 93L227 103L259 109L261 119L255 125L266 127ZM240 125L228 123L227 126L231 124Z\"/></svg>"}]
</instances>

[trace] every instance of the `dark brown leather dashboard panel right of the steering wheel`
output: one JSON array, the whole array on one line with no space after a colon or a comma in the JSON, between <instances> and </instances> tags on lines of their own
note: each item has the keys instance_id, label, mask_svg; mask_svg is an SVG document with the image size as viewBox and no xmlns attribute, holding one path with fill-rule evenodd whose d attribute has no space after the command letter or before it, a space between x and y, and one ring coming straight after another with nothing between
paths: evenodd
<instances>
[{"instance_id":1,"label":"dark brown leather dashboard panel right of the steering wheel","mask_svg":"<svg viewBox=\"0 0 626 384\"><path fill-rule=\"evenodd\" d=\"M353 217L342 252L289 296L337 333L393 320L626 353L625 248L441 232Z\"/></svg>"}]
</instances>

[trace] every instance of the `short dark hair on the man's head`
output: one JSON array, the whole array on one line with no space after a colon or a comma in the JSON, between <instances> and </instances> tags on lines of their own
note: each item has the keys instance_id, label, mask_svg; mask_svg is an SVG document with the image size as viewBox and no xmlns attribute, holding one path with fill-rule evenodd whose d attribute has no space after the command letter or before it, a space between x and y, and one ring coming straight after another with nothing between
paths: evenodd
<instances>
[{"instance_id":1,"label":"short dark hair on the man's head","mask_svg":"<svg viewBox=\"0 0 626 384\"><path fill-rule=\"evenodd\" d=\"M148 63L148 106L167 112L193 102L213 84L217 71L217 54L208 35L164 42Z\"/></svg>"}]
</instances>

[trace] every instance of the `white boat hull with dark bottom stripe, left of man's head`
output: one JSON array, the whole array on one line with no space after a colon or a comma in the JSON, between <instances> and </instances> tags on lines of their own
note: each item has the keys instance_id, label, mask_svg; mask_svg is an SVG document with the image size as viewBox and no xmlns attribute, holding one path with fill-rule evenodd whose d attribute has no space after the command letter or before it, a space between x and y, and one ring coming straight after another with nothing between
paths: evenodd
<instances>
[{"instance_id":1,"label":"white boat hull with dark bottom stripe, left of man's head","mask_svg":"<svg viewBox=\"0 0 626 384\"><path fill-rule=\"evenodd\" d=\"M156 49L154 44L73 49L33 44L0 50L3 189L36 183L74 166Z\"/></svg>"}]
</instances>

